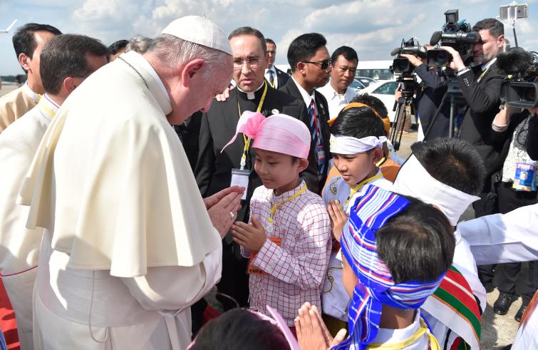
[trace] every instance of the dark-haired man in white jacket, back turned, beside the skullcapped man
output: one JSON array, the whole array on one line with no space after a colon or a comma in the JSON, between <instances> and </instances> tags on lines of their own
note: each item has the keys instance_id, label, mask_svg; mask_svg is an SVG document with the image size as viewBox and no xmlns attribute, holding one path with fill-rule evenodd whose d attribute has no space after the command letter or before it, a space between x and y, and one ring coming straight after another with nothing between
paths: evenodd
<instances>
[{"instance_id":1,"label":"dark-haired man in white jacket, back turned, beside the skullcapped man","mask_svg":"<svg viewBox=\"0 0 538 350\"><path fill-rule=\"evenodd\" d=\"M107 61L108 49L88 36L64 34L51 39L41 52L45 94L36 107L0 134L0 269L15 311L21 349L33 349L32 291L37 274L42 228L26 229L29 208L16 204L26 172L56 111L86 77Z\"/></svg>"}]
</instances>

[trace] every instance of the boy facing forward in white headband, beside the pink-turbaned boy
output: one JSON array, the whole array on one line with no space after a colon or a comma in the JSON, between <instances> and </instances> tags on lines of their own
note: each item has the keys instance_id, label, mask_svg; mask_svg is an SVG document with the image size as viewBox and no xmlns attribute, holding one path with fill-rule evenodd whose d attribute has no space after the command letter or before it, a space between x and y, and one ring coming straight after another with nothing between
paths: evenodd
<instances>
[{"instance_id":1,"label":"boy facing forward in white headband, beside the pink-turbaned boy","mask_svg":"<svg viewBox=\"0 0 538 350\"><path fill-rule=\"evenodd\" d=\"M322 197L328 206L333 225L334 244L322 289L324 320L333 336L346 328L349 297L341 283L342 262L340 235L348 220L349 209L362 195L366 184L390 190L376 166L383 158L386 141L383 121L376 112L362 103L351 103L343 108L331 125L331 154L340 176L333 177L324 188Z\"/></svg>"}]
</instances>

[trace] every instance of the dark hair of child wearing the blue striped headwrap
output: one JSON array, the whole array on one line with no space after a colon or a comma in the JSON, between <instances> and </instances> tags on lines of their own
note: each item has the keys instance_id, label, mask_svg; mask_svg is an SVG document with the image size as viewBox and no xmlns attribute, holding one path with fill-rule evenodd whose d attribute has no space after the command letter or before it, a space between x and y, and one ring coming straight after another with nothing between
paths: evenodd
<instances>
[{"instance_id":1,"label":"dark hair of child wearing the blue striped headwrap","mask_svg":"<svg viewBox=\"0 0 538 350\"><path fill-rule=\"evenodd\" d=\"M378 255L395 283L438 279L452 264L456 240L447 217L413 197L376 232Z\"/></svg>"}]
</instances>

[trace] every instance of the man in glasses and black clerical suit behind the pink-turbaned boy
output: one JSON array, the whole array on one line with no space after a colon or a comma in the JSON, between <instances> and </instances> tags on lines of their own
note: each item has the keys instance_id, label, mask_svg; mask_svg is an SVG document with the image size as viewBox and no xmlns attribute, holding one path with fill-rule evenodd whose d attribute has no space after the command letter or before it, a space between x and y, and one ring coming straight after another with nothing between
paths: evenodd
<instances>
[{"instance_id":1,"label":"man in glasses and black clerical suit behind the pink-turbaned boy","mask_svg":"<svg viewBox=\"0 0 538 350\"><path fill-rule=\"evenodd\" d=\"M245 110L259 112L266 117L274 114L291 115L308 123L306 107L302 101L269 86L264 79L267 68L267 47L263 34L251 27L240 27L228 36L234 60L233 79L236 85L226 101L216 102L202 115L200 142L195 175L202 197L219 192L230 184L246 187L242 197L242 210L237 220L249 221L249 200L256 187L262 185L254 171L254 150L246 137L237 138L226 150L224 145L235 135L239 117ZM306 185L317 190L315 165L303 173ZM222 279L219 292L229 295L247 306L247 259L240 255L239 245L228 235L223 241ZM224 309L235 304L223 300Z\"/></svg>"}]
</instances>

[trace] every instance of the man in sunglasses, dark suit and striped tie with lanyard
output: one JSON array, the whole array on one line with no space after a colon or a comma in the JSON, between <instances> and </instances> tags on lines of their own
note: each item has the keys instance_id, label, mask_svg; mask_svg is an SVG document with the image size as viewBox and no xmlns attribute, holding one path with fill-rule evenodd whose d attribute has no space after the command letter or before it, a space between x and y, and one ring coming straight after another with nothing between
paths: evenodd
<instances>
[{"instance_id":1,"label":"man in sunglasses, dark suit and striped tie with lanyard","mask_svg":"<svg viewBox=\"0 0 538 350\"><path fill-rule=\"evenodd\" d=\"M321 88L329 81L331 73L331 56L326 48L327 40L318 33L302 34L291 41L288 48L288 63L291 67L291 79L280 90L304 101L308 108L310 148L314 158L309 163L317 167L319 189L310 189L320 193L329 173L329 104L316 88ZM308 182L307 182L308 183Z\"/></svg>"}]
</instances>

